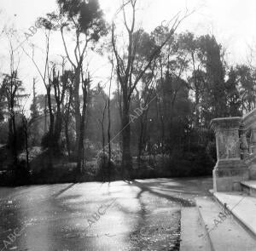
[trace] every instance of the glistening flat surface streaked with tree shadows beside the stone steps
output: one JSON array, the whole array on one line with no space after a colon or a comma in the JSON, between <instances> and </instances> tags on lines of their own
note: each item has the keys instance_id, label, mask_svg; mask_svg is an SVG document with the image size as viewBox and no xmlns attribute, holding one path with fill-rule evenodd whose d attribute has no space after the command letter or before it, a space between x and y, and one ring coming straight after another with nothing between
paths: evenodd
<instances>
[{"instance_id":1,"label":"glistening flat surface streaked with tree shadows beside the stone steps","mask_svg":"<svg viewBox=\"0 0 256 251\"><path fill-rule=\"evenodd\" d=\"M0 251L179 248L180 209L211 178L0 188Z\"/></svg>"}]
</instances>

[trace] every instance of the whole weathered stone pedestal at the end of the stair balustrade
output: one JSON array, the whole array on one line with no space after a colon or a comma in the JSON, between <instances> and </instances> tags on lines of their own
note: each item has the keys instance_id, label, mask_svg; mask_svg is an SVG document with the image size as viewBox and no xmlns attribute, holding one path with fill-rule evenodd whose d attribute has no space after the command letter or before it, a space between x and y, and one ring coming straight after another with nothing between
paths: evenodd
<instances>
[{"instance_id":1,"label":"whole weathered stone pedestal at the end of the stair balustrade","mask_svg":"<svg viewBox=\"0 0 256 251\"><path fill-rule=\"evenodd\" d=\"M240 181L248 180L247 166L241 161L240 125L241 117L215 118L211 122L218 158L213 170L214 191L240 191Z\"/></svg>"}]
</instances>

